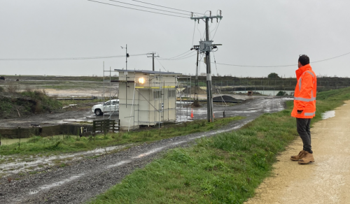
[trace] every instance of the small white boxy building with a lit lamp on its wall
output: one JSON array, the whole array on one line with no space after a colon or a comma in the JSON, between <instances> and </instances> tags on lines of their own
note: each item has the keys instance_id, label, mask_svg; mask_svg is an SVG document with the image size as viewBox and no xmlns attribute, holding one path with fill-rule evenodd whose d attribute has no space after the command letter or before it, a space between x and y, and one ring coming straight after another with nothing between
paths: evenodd
<instances>
[{"instance_id":1,"label":"small white boxy building with a lit lamp on its wall","mask_svg":"<svg viewBox=\"0 0 350 204\"><path fill-rule=\"evenodd\" d=\"M138 129L176 121L176 85L181 73L120 70L120 129Z\"/></svg>"}]
</instances>

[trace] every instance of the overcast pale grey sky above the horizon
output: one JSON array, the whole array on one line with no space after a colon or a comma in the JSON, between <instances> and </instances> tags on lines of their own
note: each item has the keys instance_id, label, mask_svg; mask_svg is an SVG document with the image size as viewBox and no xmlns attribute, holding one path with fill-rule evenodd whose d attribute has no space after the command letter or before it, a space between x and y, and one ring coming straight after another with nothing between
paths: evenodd
<instances>
[{"instance_id":1,"label":"overcast pale grey sky above the horizon","mask_svg":"<svg viewBox=\"0 0 350 204\"><path fill-rule=\"evenodd\" d=\"M97 0L127 6L108 0ZM120 0L149 6L131 0ZM211 24L216 62L250 66L295 66L257 68L217 64L221 75L262 77L275 72L295 75L299 54L319 61L350 52L350 1L289 0L144 0L161 6L204 13L218 9L223 20ZM128 6L132 7L132 6ZM136 7L133 7L136 8ZM144 8L140 8L144 9ZM146 9L145 9L146 10ZM180 12L172 10L174 12ZM158 11L160 12L160 11ZM207 13L209 14L209 13ZM175 14L177 15L177 14ZM185 15L183 15L185 16ZM162 58L182 54L204 34L204 22L189 18L145 13L86 0L1 0L0 59L66 58L144 54L158 52ZM186 53L189 54L190 52ZM190 54L191 55L191 54ZM196 56L181 60L160 60L167 71L195 73ZM160 58L159 58L160 59ZM212 56L212 61L214 58ZM0 75L102 75L105 68L125 68L125 58L69 61L4 61ZM155 61L156 70L164 68ZM311 63L317 75L349 77L350 54ZM204 64L201 71L205 72ZM128 69L151 69L152 59L132 56ZM216 75L216 66L212 64Z\"/></svg>"}]
</instances>

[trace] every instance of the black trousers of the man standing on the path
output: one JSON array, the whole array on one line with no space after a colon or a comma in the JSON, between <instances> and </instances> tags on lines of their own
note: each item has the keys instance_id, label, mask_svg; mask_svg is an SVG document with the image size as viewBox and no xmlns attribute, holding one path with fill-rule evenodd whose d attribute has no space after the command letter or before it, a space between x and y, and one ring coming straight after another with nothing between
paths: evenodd
<instances>
[{"instance_id":1,"label":"black trousers of the man standing on the path","mask_svg":"<svg viewBox=\"0 0 350 204\"><path fill-rule=\"evenodd\" d=\"M311 118L297 118L297 133L299 133L300 138L302 138L302 150L312 154L310 122Z\"/></svg>"}]
</instances>

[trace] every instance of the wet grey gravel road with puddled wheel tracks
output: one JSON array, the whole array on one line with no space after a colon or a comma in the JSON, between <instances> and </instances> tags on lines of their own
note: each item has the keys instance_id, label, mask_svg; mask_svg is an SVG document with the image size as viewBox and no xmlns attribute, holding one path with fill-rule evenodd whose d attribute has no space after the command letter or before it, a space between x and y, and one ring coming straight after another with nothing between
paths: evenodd
<instances>
[{"instance_id":1,"label":"wet grey gravel road with puddled wheel tracks","mask_svg":"<svg viewBox=\"0 0 350 204\"><path fill-rule=\"evenodd\" d=\"M226 115L241 115L246 116L246 119L232 122L220 130L134 146L97 159L83 157L64 168L48 168L36 174L12 175L12 178L19 177L20 180L11 182L8 182L7 177L2 177L0 203L84 203L123 180L134 169L142 168L153 161L166 150L190 145L197 138L239 129L263 112L283 110L284 101L285 99L254 99L231 106ZM227 110L228 107L225 108ZM221 111L217 108L216 110Z\"/></svg>"}]
</instances>

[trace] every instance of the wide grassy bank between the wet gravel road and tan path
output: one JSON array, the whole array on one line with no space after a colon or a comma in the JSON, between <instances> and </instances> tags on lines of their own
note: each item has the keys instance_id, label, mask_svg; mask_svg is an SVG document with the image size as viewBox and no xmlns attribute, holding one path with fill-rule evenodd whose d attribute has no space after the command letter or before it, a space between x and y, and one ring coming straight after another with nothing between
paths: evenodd
<instances>
[{"instance_id":1,"label":"wide grassy bank between the wet gravel road and tan path","mask_svg":"<svg viewBox=\"0 0 350 204\"><path fill-rule=\"evenodd\" d=\"M350 88L319 93L312 121L349 99ZM238 131L169 150L91 203L243 203L270 175L276 154L297 136L293 101L287 105Z\"/></svg>"}]
</instances>

